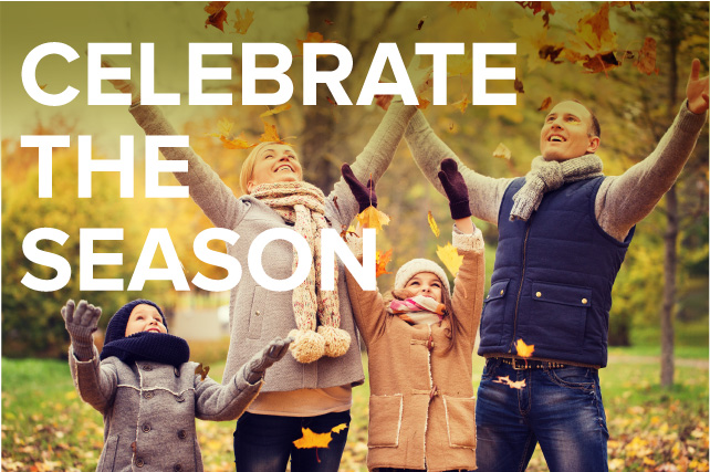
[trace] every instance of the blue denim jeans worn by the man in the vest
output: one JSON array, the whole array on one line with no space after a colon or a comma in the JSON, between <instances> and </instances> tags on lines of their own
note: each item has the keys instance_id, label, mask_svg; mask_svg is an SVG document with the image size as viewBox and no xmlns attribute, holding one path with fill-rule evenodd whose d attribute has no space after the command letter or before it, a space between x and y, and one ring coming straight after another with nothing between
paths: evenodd
<instances>
[{"instance_id":1,"label":"blue denim jeans worn by the man in the vest","mask_svg":"<svg viewBox=\"0 0 710 472\"><path fill-rule=\"evenodd\" d=\"M537 443L550 472L608 471L609 434L596 369L515 370L489 359L478 389L476 428L479 472L522 472Z\"/></svg>"}]
</instances>

